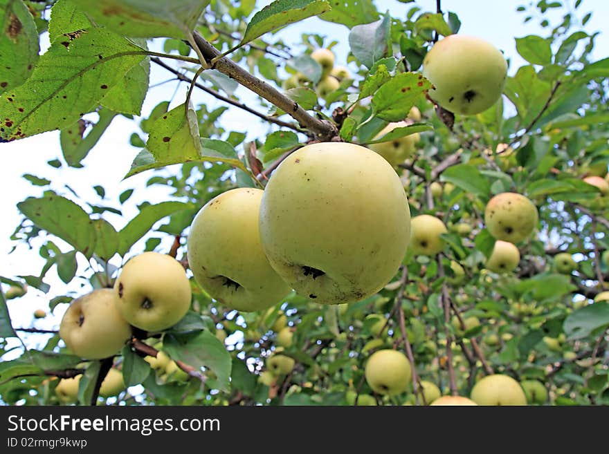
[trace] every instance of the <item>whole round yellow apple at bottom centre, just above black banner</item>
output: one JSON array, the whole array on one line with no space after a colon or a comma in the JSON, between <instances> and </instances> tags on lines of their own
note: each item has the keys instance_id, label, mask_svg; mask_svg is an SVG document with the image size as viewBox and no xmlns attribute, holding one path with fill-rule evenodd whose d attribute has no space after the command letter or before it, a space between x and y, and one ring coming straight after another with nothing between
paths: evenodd
<instances>
[{"instance_id":1,"label":"whole round yellow apple at bottom centre, just above black banner","mask_svg":"<svg viewBox=\"0 0 609 454\"><path fill-rule=\"evenodd\" d=\"M397 395L406 391L412 380L410 361L397 350L378 350L368 359L364 375L374 392L382 395Z\"/></svg>"}]
</instances>

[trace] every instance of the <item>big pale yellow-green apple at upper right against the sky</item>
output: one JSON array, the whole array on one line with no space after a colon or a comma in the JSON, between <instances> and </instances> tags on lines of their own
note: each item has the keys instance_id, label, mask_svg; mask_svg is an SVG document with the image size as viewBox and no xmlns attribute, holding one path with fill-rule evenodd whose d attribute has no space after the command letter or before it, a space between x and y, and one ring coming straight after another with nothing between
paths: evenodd
<instances>
[{"instance_id":1,"label":"big pale yellow-green apple at upper right against the sky","mask_svg":"<svg viewBox=\"0 0 609 454\"><path fill-rule=\"evenodd\" d=\"M499 100L507 62L492 44L478 37L449 35L423 60L423 75L434 88L429 97L447 111L475 115Z\"/></svg>"}]
</instances>

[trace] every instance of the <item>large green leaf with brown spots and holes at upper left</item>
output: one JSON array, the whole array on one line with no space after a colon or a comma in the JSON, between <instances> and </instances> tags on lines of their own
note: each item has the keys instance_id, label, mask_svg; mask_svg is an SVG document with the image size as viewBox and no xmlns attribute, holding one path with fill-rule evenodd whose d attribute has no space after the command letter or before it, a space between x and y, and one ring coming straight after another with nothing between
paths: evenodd
<instances>
[{"instance_id":1,"label":"large green leaf with brown spots and holes at upper left","mask_svg":"<svg viewBox=\"0 0 609 454\"><path fill-rule=\"evenodd\" d=\"M30 78L0 96L0 138L62 129L93 111L144 58L144 50L102 28L75 32L40 57Z\"/></svg>"}]
</instances>

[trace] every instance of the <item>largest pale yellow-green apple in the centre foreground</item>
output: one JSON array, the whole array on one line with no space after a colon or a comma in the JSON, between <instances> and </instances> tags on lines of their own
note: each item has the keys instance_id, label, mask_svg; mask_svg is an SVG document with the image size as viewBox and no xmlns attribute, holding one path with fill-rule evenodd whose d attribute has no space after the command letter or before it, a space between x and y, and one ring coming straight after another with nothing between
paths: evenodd
<instances>
[{"instance_id":1,"label":"largest pale yellow-green apple in the centre foreground","mask_svg":"<svg viewBox=\"0 0 609 454\"><path fill-rule=\"evenodd\" d=\"M303 146L279 165L262 196L260 239L271 266L316 303L353 303L381 290L409 238L399 177L363 146Z\"/></svg>"}]
</instances>

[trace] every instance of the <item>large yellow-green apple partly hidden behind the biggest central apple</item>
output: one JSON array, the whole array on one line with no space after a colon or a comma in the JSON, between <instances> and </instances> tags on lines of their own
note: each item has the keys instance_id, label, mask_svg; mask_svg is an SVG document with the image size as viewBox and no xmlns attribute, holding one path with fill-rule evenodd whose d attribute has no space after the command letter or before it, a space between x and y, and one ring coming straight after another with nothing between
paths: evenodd
<instances>
[{"instance_id":1,"label":"large yellow-green apple partly hidden behind the biggest central apple","mask_svg":"<svg viewBox=\"0 0 609 454\"><path fill-rule=\"evenodd\" d=\"M260 245L261 200L261 189L221 193L194 216L188 236L194 279L213 299L243 312L270 308L290 292Z\"/></svg>"}]
</instances>

